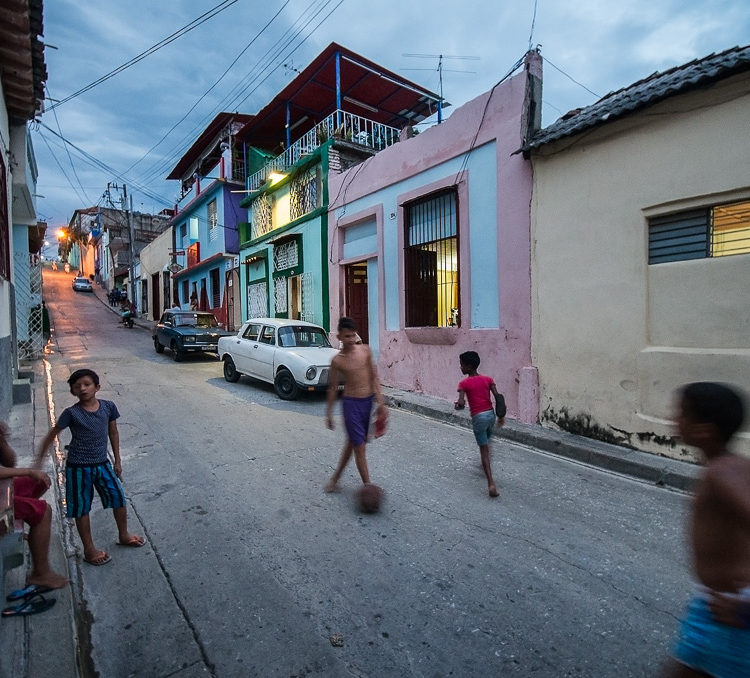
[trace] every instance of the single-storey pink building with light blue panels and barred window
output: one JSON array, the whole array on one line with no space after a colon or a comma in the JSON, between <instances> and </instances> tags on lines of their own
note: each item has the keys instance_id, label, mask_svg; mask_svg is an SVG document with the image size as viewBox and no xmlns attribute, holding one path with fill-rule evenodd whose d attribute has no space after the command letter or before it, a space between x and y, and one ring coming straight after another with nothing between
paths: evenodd
<instances>
[{"instance_id":1,"label":"single-storey pink building with light blue panels and barred window","mask_svg":"<svg viewBox=\"0 0 750 678\"><path fill-rule=\"evenodd\" d=\"M541 57L341 174L329 186L331 325L355 318L387 386L453 400L475 350L511 417L536 422L531 364L531 166Z\"/></svg>"}]
</instances>

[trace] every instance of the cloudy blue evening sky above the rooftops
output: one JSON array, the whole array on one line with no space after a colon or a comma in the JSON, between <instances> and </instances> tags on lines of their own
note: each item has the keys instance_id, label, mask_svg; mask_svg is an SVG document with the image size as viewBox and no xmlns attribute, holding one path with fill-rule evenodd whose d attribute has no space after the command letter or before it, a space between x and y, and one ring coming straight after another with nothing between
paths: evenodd
<instances>
[{"instance_id":1,"label":"cloudy blue evening sky above the rooftops","mask_svg":"<svg viewBox=\"0 0 750 678\"><path fill-rule=\"evenodd\" d=\"M214 116L257 112L296 75L294 69L302 70L331 42L434 92L440 90L437 55L444 55L443 96L451 103L446 116L490 90L529 47L539 47L546 126L656 71L747 45L750 5L46 0L43 41L48 100L31 127L37 213L51 234L76 209L107 205L110 182L127 184L137 211L173 206L179 182L165 177Z\"/></svg>"}]
</instances>

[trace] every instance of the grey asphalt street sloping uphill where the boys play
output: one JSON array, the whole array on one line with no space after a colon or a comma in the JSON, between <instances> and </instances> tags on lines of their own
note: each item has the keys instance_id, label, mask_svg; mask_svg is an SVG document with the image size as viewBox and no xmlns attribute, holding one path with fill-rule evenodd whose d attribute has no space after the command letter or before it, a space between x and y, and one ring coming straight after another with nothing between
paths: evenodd
<instances>
[{"instance_id":1,"label":"grey asphalt street sloping uphill where the boys play","mask_svg":"<svg viewBox=\"0 0 750 678\"><path fill-rule=\"evenodd\" d=\"M88 666L101 676L654 676L690 591L688 497L496 443L487 496L470 431L394 411L356 470L322 487L343 434L324 400L224 381L118 327L72 275L45 274L47 357L90 367L114 400L132 530L92 523L110 564L80 564ZM63 434L63 442L67 442ZM80 563L80 559L78 560ZM83 634L85 639L86 634Z\"/></svg>"}]
</instances>

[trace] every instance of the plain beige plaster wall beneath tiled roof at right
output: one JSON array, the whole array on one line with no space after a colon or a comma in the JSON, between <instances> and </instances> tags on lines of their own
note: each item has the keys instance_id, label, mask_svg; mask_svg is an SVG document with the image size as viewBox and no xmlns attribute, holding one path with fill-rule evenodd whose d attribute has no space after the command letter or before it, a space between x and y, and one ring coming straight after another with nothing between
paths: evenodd
<instances>
[{"instance_id":1,"label":"plain beige plaster wall beneath tiled roof at right","mask_svg":"<svg viewBox=\"0 0 750 678\"><path fill-rule=\"evenodd\" d=\"M669 456L675 387L750 392L750 254L648 265L648 217L750 199L750 76L533 158L533 362L544 423ZM750 452L750 435L738 447Z\"/></svg>"}]
</instances>

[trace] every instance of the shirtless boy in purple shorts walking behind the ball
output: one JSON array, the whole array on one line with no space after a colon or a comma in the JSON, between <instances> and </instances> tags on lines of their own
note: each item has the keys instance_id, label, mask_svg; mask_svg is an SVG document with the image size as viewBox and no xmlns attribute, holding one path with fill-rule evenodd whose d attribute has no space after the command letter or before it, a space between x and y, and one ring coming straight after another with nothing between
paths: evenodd
<instances>
[{"instance_id":1,"label":"shirtless boy in purple shorts walking behind the ball","mask_svg":"<svg viewBox=\"0 0 750 678\"><path fill-rule=\"evenodd\" d=\"M338 385L343 382L344 393L341 404L346 441L336 471L325 486L326 492L333 492L336 489L352 452L354 452L354 461L362 482L365 484L370 482L365 447L373 401L377 402L378 417L384 421L388 416L372 351L369 346L357 343L359 336L351 318L343 317L339 320L337 336L342 348L331 361L326 398L326 424L329 429L333 430L333 405L336 402Z\"/></svg>"}]
</instances>

